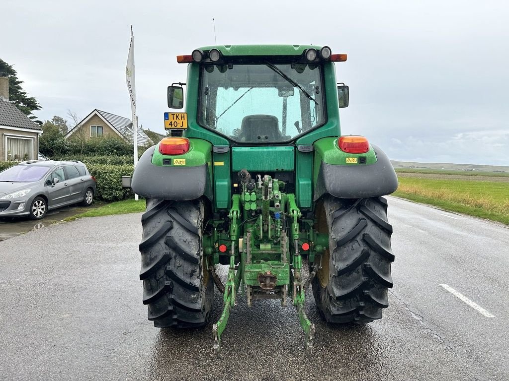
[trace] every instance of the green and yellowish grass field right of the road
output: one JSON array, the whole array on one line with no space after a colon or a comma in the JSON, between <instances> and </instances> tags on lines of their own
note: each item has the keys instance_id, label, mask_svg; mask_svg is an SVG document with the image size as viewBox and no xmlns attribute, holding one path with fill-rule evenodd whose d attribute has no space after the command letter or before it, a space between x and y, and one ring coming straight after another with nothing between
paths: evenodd
<instances>
[{"instance_id":1,"label":"green and yellowish grass field right of the road","mask_svg":"<svg viewBox=\"0 0 509 381\"><path fill-rule=\"evenodd\" d=\"M397 169L394 196L509 225L509 174Z\"/></svg>"}]
</instances>

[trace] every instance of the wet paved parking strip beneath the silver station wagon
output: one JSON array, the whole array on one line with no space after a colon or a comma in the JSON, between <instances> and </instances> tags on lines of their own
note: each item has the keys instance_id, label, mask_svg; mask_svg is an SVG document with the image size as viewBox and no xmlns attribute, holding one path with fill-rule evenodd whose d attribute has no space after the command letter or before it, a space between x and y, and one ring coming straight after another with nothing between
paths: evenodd
<instances>
[{"instance_id":1,"label":"wet paved parking strip beneath the silver station wagon","mask_svg":"<svg viewBox=\"0 0 509 381\"><path fill-rule=\"evenodd\" d=\"M94 205L91 206L93 208ZM0 241L15 237L31 230L45 228L62 221L64 218L83 213L87 207L66 206L46 213L43 219L33 220L30 217L0 217Z\"/></svg>"}]
</instances>

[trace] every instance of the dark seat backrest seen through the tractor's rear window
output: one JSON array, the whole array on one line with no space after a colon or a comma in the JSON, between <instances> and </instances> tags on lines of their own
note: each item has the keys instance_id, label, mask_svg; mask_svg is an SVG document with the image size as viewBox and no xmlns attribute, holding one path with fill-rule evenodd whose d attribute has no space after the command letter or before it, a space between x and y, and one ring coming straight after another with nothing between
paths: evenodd
<instances>
[{"instance_id":1,"label":"dark seat backrest seen through the tractor's rear window","mask_svg":"<svg viewBox=\"0 0 509 381\"><path fill-rule=\"evenodd\" d=\"M247 115L242 119L237 138L244 142L263 142L281 140L278 120L273 115Z\"/></svg>"}]
</instances>

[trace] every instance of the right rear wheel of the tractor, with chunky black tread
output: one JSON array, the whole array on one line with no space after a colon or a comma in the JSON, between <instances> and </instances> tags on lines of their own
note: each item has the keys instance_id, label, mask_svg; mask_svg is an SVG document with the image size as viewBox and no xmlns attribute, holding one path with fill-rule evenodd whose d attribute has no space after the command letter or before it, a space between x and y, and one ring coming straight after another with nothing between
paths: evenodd
<instances>
[{"instance_id":1,"label":"right rear wheel of the tractor, with chunky black tread","mask_svg":"<svg viewBox=\"0 0 509 381\"><path fill-rule=\"evenodd\" d=\"M329 235L329 247L312 267L313 294L329 323L370 323L382 317L392 287L394 261L387 222L387 201L326 196L317 205L317 230Z\"/></svg>"}]
</instances>

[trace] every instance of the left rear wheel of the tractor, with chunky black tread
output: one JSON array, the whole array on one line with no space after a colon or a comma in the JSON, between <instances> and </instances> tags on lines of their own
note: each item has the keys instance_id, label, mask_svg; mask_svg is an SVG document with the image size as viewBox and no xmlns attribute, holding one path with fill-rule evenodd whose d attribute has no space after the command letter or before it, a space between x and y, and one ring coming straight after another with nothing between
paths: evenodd
<instances>
[{"instance_id":1,"label":"left rear wheel of the tractor, with chunky black tread","mask_svg":"<svg viewBox=\"0 0 509 381\"><path fill-rule=\"evenodd\" d=\"M204 215L202 200L147 199L139 278L143 303L155 327L207 324L214 283L202 247Z\"/></svg>"}]
</instances>

